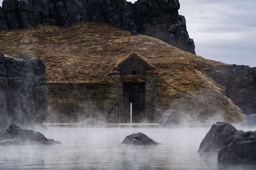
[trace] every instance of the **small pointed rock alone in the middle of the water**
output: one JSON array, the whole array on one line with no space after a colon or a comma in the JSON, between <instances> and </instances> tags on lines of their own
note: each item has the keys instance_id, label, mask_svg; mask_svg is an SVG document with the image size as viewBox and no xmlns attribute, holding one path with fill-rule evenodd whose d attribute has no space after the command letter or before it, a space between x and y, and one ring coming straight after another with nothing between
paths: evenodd
<instances>
[{"instance_id":1,"label":"small pointed rock alone in the middle of the water","mask_svg":"<svg viewBox=\"0 0 256 170\"><path fill-rule=\"evenodd\" d=\"M122 144L125 145L157 145L158 143L144 135L143 133L134 133L128 135Z\"/></svg>"}]
</instances>

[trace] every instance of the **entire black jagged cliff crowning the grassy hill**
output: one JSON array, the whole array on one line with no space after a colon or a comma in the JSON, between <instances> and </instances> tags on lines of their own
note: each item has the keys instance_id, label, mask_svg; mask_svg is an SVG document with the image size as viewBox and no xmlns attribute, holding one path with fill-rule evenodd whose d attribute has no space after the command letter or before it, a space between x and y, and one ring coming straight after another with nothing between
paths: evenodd
<instances>
[{"instance_id":1,"label":"entire black jagged cliff crowning the grassy hill","mask_svg":"<svg viewBox=\"0 0 256 170\"><path fill-rule=\"evenodd\" d=\"M109 23L115 27L157 37L195 54L178 0L3 0L0 30L44 23L67 27L81 21Z\"/></svg>"}]
</instances>

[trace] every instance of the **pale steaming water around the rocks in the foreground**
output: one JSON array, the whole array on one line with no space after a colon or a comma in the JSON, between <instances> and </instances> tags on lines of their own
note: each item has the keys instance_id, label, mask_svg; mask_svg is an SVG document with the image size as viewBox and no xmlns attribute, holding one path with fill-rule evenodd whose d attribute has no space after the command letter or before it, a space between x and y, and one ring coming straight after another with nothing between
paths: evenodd
<instances>
[{"instance_id":1,"label":"pale steaming water around the rocks in the foreground","mask_svg":"<svg viewBox=\"0 0 256 170\"><path fill-rule=\"evenodd\" d=\"M62 145L1 146L0 169L255 169L220 167L216 155L200 157L198 147L208 130L50 128L42 133ZM126 135L137 132L163 145L120 145Z\"/></svg>"}]
</instances>

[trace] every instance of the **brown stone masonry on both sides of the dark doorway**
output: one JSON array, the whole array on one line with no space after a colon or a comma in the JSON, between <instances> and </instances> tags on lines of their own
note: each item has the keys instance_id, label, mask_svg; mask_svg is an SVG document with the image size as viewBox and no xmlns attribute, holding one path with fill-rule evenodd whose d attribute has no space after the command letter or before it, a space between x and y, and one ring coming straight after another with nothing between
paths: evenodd
<instances>
[{"instance_id":1,"label":"brown stone masonry on both sides of the dark doorway","mask_svg":"<svg viewBox=\"0 0 256 170\"><path fill-rule=\"evenodd\" d=\"M144 119L153 121L157 74L147 74ZM87 118L124 122L124 82L118 73L106 84L48 84L49 116L46 122L83 122Z\"/></svg>"}]
</instances>

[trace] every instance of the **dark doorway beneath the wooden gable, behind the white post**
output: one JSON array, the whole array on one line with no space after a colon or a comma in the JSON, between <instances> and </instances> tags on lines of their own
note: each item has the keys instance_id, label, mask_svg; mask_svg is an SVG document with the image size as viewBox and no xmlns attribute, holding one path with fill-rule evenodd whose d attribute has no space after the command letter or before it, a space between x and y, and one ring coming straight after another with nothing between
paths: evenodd
<instances>
[{"instance_id":1,"label":"dark doorway beneath the wooden gable, behind the white post","mask_svg":"<svg viewBox=\"0 0 256 170\"><path fill-rule=\"evenodd\" d=\"M124 83L124 122L130 122L130 103L132 103L132 122L140 122L144 115L145 83Z\"/></svg>"}]
</instances>

